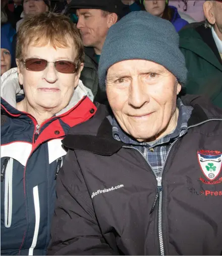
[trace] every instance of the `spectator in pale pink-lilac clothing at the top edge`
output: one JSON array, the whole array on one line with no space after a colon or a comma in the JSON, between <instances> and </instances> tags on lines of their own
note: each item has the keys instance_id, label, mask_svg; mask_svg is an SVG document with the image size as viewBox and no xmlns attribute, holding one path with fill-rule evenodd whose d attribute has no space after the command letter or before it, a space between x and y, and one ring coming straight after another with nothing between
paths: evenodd
<instances>
[{"instance_id":1,"label":"spectator in pale pink-lilac clothing at the top edge","mask_svg":"<svg viewBox=\"0 0 222 256\"><path fill-rule=\"evenodd\" d=\"M203 21L203 3L204 0L170 0L169 4L175 6L178 11L190 15L196 21Z\"/></svg>"}]
</instances>

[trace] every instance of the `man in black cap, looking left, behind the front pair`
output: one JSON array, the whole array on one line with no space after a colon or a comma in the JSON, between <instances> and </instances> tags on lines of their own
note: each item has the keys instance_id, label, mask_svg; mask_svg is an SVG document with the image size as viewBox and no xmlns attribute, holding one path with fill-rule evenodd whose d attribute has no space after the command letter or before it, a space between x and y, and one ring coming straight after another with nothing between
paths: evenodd
<instances>
[{"instance_id":1,"label":"man in black cap, looking left, behind the front pair","mask_svg":"<svg viewBox=\"0 0 222 256\"><path fill-rule=\"evenodd\" d=\"M77 28L85 46L85 63L80 79L86 87L97 92L96 101L104 103L106 94L100 91L97 69L102 47L109 28L125 13L121 0L72 0L70 14L78 16Z\"/></svg>"}]
</instances>

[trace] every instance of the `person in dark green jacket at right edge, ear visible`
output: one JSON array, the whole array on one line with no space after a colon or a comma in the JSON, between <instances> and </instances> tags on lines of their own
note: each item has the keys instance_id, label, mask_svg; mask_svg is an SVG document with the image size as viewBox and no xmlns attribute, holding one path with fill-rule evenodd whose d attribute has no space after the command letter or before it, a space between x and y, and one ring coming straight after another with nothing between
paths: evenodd
<instances>
[{"instance_id":1,"label":"person in dark green jacket at right edge, ear visible","mask_svg":"<svg viewBox=\"0 0 222 256\"><path fill-rule=\"evenodd\" d=\"M186 58L186 93L205 94L222 107L222 1L206 1L206 22L182 29L180 49Z\"/></svg>"}]
</instances>

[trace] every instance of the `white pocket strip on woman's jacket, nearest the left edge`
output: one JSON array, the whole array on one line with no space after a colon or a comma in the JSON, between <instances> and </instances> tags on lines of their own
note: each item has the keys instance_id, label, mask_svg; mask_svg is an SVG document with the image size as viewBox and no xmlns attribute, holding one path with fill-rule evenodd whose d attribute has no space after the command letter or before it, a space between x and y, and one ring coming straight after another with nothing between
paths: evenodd
<instances>
[{"instance_id":1,"label":"white pocket strip on woman's jacket, nearest the left edge","mask_svg":"<svg viewBox=\"0 0 222 256\"><path fill-rule=\"evenodd\" d=\"M13 177L13 158L9 158L5 169L5 227L10 228L12 224L12 177Z\"/></svg>"}]
</instances>

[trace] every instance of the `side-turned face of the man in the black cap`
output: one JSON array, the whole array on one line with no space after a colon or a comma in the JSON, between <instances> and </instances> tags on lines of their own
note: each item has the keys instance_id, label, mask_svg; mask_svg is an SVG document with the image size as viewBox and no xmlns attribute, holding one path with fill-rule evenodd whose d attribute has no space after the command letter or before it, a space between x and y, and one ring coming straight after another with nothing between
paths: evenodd
<instances>
[{"instance_id":1,"label":"side-turned face of the man in the black cap","mask_svg":"<svg viewBox=\"0 0 222 256\"><path fill-rule=\"evenodd\" d=\"M83 45L95 48L103 45L108 32L108 16L103 17L102 11L97 9L79 9L76 15Z\"/></svg>"}]
</instances>

